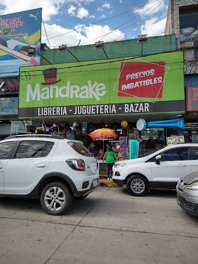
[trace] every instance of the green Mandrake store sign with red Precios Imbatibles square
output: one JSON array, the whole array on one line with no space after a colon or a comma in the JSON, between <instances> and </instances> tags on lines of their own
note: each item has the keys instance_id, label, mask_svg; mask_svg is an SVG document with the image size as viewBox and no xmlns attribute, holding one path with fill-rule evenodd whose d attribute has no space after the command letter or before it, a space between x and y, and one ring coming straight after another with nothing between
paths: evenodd
<instances>
[{"instance_id":1,"label":"green Mandrake store sign with red Precios Imbatibles square","mask_svg":"<svg viewBox=\"0 0 198 264\"><path fill-rule=\"evenodd\" d=\"M21 118L185 112L183 52L20 67L19 88Z\"/></svg>"}]
</instances>

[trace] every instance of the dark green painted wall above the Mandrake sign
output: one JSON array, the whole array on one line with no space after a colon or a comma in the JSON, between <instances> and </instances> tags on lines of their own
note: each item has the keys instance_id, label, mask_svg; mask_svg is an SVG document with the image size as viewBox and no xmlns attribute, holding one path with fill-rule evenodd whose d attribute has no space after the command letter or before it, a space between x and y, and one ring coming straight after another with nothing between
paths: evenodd
<instances>
[{"instance_id":1,"label":"dark green painted wall above the Mandrake sign","mask_svg":"<svg viewBox=\"0 0 198 264\"><path fill-rule=\"evenodd\" d=\"M65 37L65 44L66 37ZM62 44L60 44L62 45ZM85 45L70 47L69 51L78 58L79 61L89 61L108 58L121 58L125 56L140 56L146 54L155 54L170 52L176 50L175 35L158 36L148 38L148 43L138 44L137 39L116 41L105 43L104 51L95 50L95 45ZM68 51L58 52L58 49L41 51L51 64L77 62L76 58ZM106 56L107 55L107 56ZM49 62L40 57L40 65L48 65Z\"/></svg>"}]
</instances>

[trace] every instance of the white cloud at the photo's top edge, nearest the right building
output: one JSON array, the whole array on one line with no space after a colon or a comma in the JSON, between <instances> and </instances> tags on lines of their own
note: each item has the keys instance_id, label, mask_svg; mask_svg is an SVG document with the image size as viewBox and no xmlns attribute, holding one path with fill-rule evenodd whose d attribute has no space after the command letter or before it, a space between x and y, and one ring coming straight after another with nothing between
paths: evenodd
<instances>
[{"instance_id":1,"label":"white cloud at the photo's top edge, nearest the right building","mask_svg":"<svg viewBox=\"0 0 198 264\"><path fill-rule=\"evenodd\" d=\"M160 2L161 0L155 0L154 2L153 0L148 0L148 3L145 6L143 6L142 8L135 9L134 12L140 14L141 16L148 15L149 13L150 15L152 15L164 8L164 1L159 4Z\"/></svg>"}]
</instances>

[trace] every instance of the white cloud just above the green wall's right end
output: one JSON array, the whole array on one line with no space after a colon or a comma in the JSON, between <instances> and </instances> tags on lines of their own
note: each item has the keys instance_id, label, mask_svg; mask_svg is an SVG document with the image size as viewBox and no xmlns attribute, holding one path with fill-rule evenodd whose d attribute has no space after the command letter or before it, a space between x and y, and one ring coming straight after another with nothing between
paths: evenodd
<instances>
[{"instance_id":1,"label":"white cloud just above the green wall's right end","mask_svg":"<svg viewBox=\"0 0 198 264\"><path fill-rule=\"evenodd\" d=\"M141 33L147 34L148 37L161 36L164 35L165 26L166 18L158 20L157 17L153 17L141 26Z\"/></svg>"}]
</instances>

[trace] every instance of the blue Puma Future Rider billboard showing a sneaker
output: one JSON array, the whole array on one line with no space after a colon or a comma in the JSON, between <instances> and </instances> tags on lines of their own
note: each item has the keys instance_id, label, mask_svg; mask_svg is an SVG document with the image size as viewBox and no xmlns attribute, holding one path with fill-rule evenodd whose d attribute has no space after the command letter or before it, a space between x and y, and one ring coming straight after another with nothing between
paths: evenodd
<instances>
[{"instance_id":1,"label":"blue Puma Future Rider billboard showing a sneaker","mask_svg":"<svg viewBox=\"0 0 198 264\"><path fill-rule=\"evenodd\" d=\"M21 65L39 65L42 8L0 16L0 76L18 75ZM28 49L38 53L28 56Z\"/></svg>"}]
</instances>

